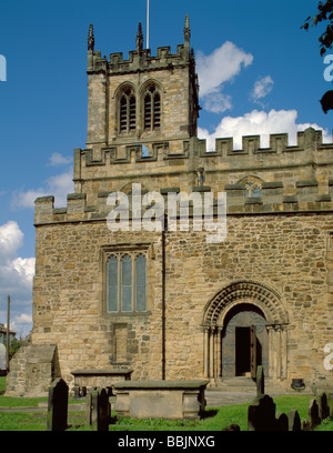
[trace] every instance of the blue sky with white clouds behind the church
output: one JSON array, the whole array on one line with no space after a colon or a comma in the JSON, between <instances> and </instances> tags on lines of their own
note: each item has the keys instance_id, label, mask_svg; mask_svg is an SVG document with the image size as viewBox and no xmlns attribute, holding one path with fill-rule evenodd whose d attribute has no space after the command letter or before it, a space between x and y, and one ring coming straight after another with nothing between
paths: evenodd
<instances>
[{"instance_id":1,"label":"blue sky with white clouds behind the church","mask_svg":"<svg viewBox=\"0 0 333 453\"><path fill-rule=\"evenodd\" d=\"M199 135L289 132L293 144L307 125L332 141L332 111L319 100L324 80L317 37L300 27L316 0L150 0L150 48L183 42L190 16L191 46L201 88ZM72 190L72 154L87 139L87 34L94 24L102 54L135 48L139 21L147 30L147 0L2 0L0 54L0 322L18 334L31 329L34 266L33 201ZM333 53L333 50L332 50Z\"/></svg>"}]
</instances>

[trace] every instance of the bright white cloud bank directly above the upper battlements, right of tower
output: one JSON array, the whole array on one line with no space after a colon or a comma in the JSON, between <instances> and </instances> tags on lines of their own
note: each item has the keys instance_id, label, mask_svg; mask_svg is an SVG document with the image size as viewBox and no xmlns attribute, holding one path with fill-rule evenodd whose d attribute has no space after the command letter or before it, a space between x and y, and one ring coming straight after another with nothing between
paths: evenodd
<instances>
[{"instance_id":1,"label":"bright white cloud bank directly above the upper battlements, right of tower","mask_svg":"<svg viewBox=\"0 0 333 453\"><path fill-rule=\"evenodd\" d=\"M210 133L206 129L199 128L198 135L206 139L206 149L215 148L216 138L233 137L234 149L242 148L243 135L261 135L261 148L269 147L271 133L287 133L289 144L296 144L299 131L306 128L323 130L315 123L297 123L296 110L271 110L270 112L253 110L243 117L224 117L216 129ZM323 130L323 141L329 142L329 131Z\"/></svg>"}]
</instances>

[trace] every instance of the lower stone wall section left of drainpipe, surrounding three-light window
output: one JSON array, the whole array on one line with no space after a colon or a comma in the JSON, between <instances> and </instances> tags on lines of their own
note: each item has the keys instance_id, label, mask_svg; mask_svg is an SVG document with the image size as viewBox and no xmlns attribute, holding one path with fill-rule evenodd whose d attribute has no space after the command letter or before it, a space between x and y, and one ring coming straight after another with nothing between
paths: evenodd
<instances>
[{"instance_id":1,"label":"lower stone wall section left of drainpipe, surrounding three-light window","mask_svg":"<svg viewBox=\"0 0 333 453\"><path fill-rule=\"evenodd\" d=\"M112 235L107 222L37 228L32 342L57 344L61 375L69 383L75 369L117 365L117 331L125 342L121 365L135 363L132 379L161 379L160 241L152 234ZM149 246L149 312L109 314L102 249L138 243Z\"/></svg>"}]
</instances>

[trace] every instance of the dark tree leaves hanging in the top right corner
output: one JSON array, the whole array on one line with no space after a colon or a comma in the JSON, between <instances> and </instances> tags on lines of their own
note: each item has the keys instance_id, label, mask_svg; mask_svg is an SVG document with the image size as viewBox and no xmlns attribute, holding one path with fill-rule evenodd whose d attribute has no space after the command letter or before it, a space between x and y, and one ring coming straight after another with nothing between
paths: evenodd
<instances>
[{"instance_id":1,"label":"dark tree leaves hanging in the top right corner","mask_svg":"<svg viewBox=\"0 0 333 453\"><path fill-rule=\"evenodd\" d=\"M301 27L304 30L309 30L309 27L316 27L319 23L329 21L326 30L320 36L320 52L323 56L326 50L333 47L333 0L320 1L317 6L317 14L313 18L309 16L304 24Z\"/></svg>"}]
</instances>

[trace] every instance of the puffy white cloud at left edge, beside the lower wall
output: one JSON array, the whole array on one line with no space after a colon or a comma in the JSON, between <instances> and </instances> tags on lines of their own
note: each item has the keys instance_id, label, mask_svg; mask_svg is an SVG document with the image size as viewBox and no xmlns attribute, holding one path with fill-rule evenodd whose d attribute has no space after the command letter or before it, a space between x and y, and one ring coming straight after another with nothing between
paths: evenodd
<instances>
[{"instance_id":1,"label":"puffy white cloud at left edge, beside the lower wall","mask_svg":"<svg viewBox=\"0 0 333 453\"><path fill-rule=\"evenodd\" d=\"M18 250L23 245L23 233L17 222L0 225L0 300L7 309L7 295L11 296L10 326L17 333L27 335L32 326L32 280L34 258L20 258ZM7 312L0 311L0 322L7 320Z\"/></svg>"}]
</instances>

